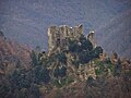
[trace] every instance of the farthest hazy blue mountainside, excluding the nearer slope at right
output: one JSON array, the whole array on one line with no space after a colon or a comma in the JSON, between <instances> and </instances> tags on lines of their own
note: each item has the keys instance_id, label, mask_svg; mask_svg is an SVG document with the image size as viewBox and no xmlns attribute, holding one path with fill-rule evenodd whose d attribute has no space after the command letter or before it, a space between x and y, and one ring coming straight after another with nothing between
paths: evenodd
<instances>
[{"instance_id":1,"label":"farthest hazy blue mountainside, excluding the nearer slope at right","mask_svg":"<svg viewBox=\"0 0 131 98\"><path fill-rule=\"evenodd\" d=\"M47 30L50 25L83 24L85 35L131 7L130 0L1 0L0 29L7 37L47 50ZM7 7L9 5L9 7ZM24 39L24 40L23 40Z\"/></svg>"}]
</instances>

